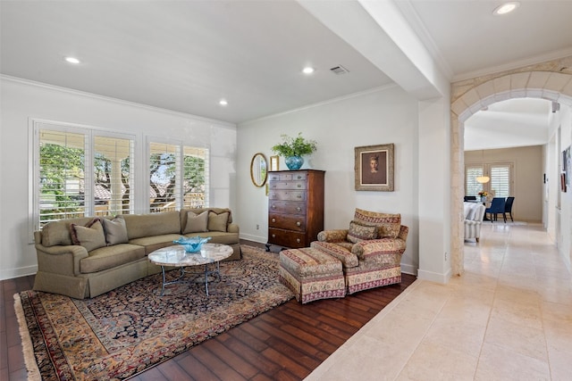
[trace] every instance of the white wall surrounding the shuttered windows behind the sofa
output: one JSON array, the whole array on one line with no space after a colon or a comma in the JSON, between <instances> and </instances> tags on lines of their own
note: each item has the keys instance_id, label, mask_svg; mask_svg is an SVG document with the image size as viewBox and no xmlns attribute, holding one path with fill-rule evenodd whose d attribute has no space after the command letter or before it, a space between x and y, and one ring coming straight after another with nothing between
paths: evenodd
<instances>
[{"instance_id":1,"label":"white wall surrounding the shuttered windows behind the sofa","mask_svg":"<svg viewBox=\"0 0 572 381\"><path fill-rule=\"evenodd\" d=\"M139 145L147 135L181 137L185 144L210 148L210 204L237 209L232 192L236 186L235 125L9 77L0 80L0 279L37 270L28 231L30 118L136 134ZM236 213L233 217L240 219Z\"/></svg>"}]
</instances>

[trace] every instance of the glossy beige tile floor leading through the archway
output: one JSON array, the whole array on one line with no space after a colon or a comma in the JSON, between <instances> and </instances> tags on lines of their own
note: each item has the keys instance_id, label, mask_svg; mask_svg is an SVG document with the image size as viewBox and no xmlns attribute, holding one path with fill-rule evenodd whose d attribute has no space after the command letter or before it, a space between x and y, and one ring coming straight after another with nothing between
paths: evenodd
<instances>
[{"instance_id":1,"label":"glossy beige tile floor leading through the archway","mask_svg":"<svg viewBox=\"0 0 572 381\"><path fill-rule=\"evenodd\" d=\"M484 224L447 285L416 280L307 380L572 380L572 282L540 225Z\"/></svg>"}]
</instances>

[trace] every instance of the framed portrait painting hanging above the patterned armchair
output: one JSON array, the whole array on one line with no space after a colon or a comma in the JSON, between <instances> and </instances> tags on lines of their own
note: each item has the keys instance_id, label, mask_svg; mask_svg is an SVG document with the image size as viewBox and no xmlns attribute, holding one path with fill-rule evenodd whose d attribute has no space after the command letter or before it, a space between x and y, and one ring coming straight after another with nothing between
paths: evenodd
<instances>
[{"instance_id":1,"label":"framed portrait painting hanging above the patterned armchair","mask_svg":"<svg viewBox=\"0 0 572 381\"><path fill-rule=\"evenodd\" d=\"M356 190L393 192L393 144L355 148Z\"/></svg>"}]
</instances>

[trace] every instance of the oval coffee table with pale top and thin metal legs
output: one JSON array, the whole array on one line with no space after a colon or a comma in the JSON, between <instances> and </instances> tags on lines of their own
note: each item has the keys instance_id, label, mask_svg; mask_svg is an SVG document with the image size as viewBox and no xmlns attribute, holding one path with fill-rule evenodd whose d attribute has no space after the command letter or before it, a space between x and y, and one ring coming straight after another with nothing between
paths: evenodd
<instances>
[{"instance_id":1,"label":"oval coffee table with pale top and thin metal legs","mask_svg":"<svg viewBox=\"0 0 572 381\"><path fill-rule=\"evenodd\" d=\"M221 272L219 269L220 261L232 255L232 248L228 244L203 244L200 252L187 253L185 248L177 244L174 246L158 249L153 253L149 253L149 261L161 266L163 272L163 285L161 286L161 296L164 294L164 286L175 283L186 282L185 274L200 275L205 277L205 290L208 296L208 280L209 277L218 277L221 280ZM209 269L209 265L212 265ZM194 266L204 266L203 271L188 271L186 268ZM178 267L180 270L179 277L166 281L165 267ZM214 269L213 269L214 267Z\"/></svg>"}]
</instances>

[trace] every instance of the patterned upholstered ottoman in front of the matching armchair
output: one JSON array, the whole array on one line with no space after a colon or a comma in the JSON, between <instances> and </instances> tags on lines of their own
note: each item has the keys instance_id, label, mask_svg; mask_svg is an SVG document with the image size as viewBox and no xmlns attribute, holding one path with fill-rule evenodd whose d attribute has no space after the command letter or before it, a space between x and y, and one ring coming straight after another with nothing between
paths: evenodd
<instances>
[{"instance_id":1,"label":"patterned upholstered ottoman in front of the matching armchair","mask_svg":"<svg viewBox=\"0 0 572 381\"><path fill-rule=\"evenodd\" d=\"M312 247L282 250L279 277L302 304L346 295L341 261Z\"/></svg>"}]
</instances>

